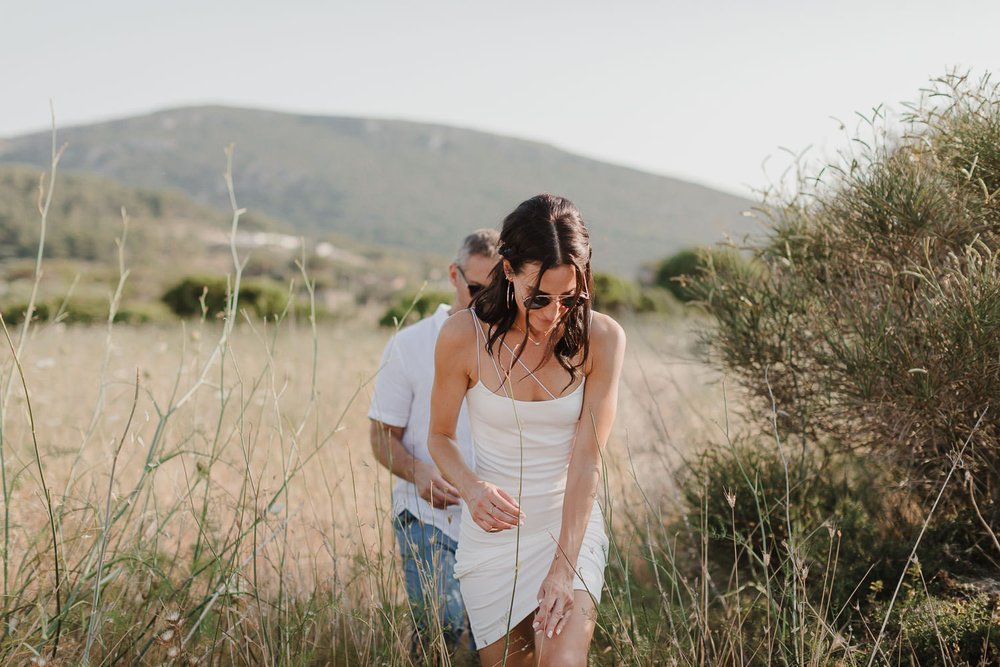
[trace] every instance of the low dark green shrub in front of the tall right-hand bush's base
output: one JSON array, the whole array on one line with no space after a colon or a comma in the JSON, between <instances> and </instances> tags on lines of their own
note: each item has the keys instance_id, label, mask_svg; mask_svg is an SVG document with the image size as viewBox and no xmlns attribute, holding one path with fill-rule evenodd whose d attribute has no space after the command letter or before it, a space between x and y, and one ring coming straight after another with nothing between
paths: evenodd
<instances>
[{"instance_id":1,"label":"low dark green shrub in front of the tall right-hand bush's base","mask_svg":"<svg viewBox=\"0 0 1000 667\"><path fill-rule=\"evenodd\" d=\"M908 525L891 509L882 470L850 453L765 441L706 450L679 479L714 572L737 566L741 580L759 584L807 572L801 583L812 598L841 607L899 572L909 554Z\"/></svg>"}]
</instances>

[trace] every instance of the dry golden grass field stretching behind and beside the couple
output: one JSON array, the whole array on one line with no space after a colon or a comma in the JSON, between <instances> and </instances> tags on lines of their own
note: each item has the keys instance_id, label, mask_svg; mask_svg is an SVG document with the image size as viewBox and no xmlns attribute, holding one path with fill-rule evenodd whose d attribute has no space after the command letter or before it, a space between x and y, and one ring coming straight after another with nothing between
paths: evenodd
<instances>
[{"instance_id":1,"label":"dry golden grass field stretching behind and beside the couple","mask_svg":"<svg viewBox=\"0 0 1000 667\"><path fill-rule=\"evenodd\" d=\"M683 452L722 437L722 383L697 361L691 327L629 325L607 448L615 513L645 514L649 504L669 513ZM225 332L197 321L36 325L19 355L27 393L11 349L0 355L7 658L52 648L56 558L60 652L70 662L84 652L94 663L228 661L220 644L240 662L241 651L273 655L279 645L292 658L308 644L326 647L327 658L312 658L322 664L340 659L330 657L343 650L336 637L324 637L334 628L292 610L321 598L352 617L398 609L392 482L374 463L366 418L391 331L244 320ZM174 634L163 619L175 612L184 625ZM265 629L293 613L298 638ZM405 644L403 626L389 624ZM385 640L370 623L341 632L353 633L348 645Z\"/></svg>"}]
</instances>

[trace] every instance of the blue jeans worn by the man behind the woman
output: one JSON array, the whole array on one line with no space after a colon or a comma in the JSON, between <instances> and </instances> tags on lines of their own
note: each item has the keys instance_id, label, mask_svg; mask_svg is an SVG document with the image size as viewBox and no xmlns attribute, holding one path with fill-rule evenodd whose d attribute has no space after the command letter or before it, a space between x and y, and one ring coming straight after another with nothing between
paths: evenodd
<instances>
[{"instance_id":1,"label":"blue jeans worn by the man behind the woman","mask_svg":"<svg viewBox=\"0 0 1000 667\"><path fill-rule=\"evenodd\" d=\"M429 648L440 631L445 645L454 650L466 624L465 603L455 579L458 544L406 510L393 519L392 525L403 557L406 596L418 639L425 649Z\"/></svg>"}]
</instances>

